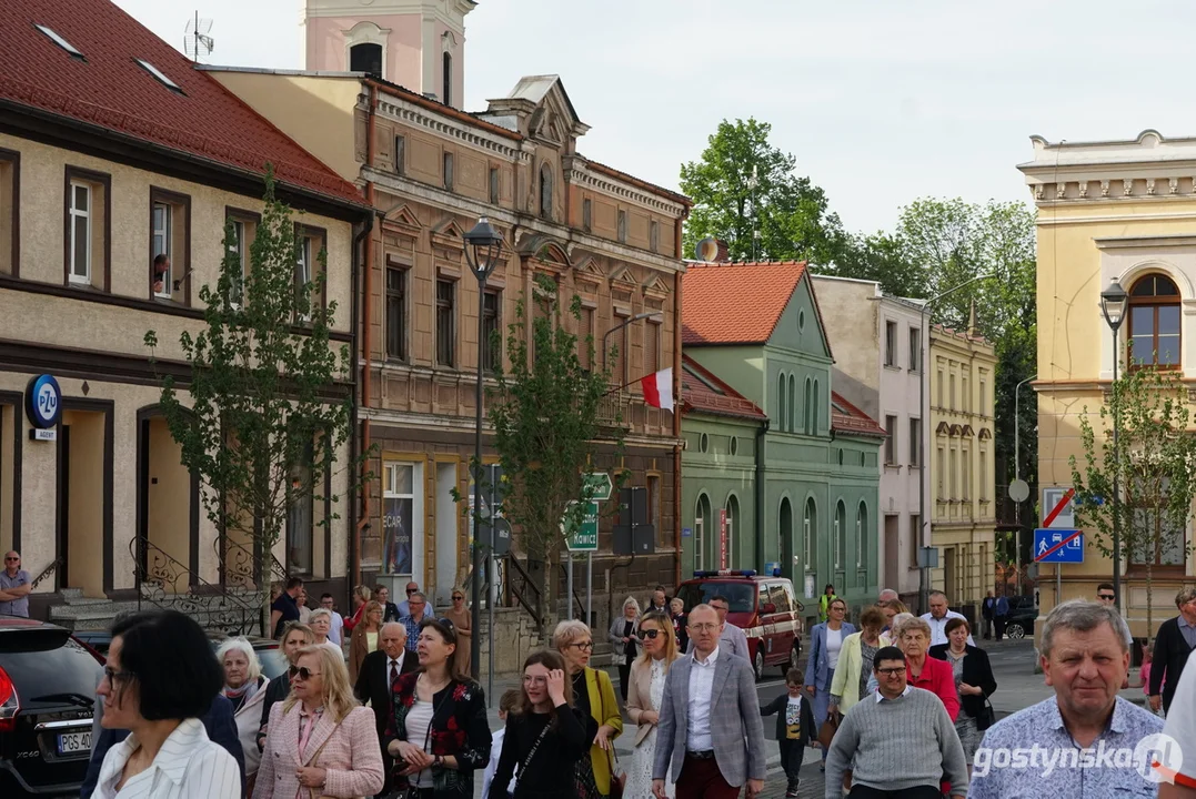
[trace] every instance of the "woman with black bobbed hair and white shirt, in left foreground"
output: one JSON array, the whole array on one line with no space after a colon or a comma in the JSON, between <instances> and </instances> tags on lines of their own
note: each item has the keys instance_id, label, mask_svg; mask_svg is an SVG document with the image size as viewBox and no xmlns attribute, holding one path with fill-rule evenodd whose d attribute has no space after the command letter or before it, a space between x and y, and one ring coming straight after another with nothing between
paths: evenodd
<instances>
[{"instance_id":1,"label":"woman with black bobbed hair and white shirt, in left foreground","mask_svg":"<svg viewBox=\"0 0 1196 799\"><path fill-rule=\"evenodd\" d=\"M222 682L207 635L182 613L139 614L114 635L100 724L130 735L104 757L93 799L238 799L240 768L200 721Z\"/></svg>"}]
</instances>

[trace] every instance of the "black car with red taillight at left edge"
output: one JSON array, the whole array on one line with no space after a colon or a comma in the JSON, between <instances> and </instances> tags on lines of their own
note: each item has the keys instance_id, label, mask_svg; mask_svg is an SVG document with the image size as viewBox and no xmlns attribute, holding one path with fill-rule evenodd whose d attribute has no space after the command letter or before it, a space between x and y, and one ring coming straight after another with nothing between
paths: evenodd
<instances>
[{"instance_id":1,"label":"black car with red taillight at left edge","mask_svg":"<svg viewBox=\"0 0 1196 799\"><path fill-rule=\"evenodd\" d=\"M79 795L103 676L71 631L0 616L0 797Z\"/></svg>"}]
</instances>

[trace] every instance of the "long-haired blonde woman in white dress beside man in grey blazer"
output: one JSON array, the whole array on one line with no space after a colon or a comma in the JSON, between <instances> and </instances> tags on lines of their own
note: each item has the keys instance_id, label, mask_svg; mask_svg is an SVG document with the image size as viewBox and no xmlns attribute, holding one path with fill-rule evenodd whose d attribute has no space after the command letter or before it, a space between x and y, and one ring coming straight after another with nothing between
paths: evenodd
<instances>
[{"instance_id":1,"label":"long-haired blonde woman in white dress beside man in grey blazer","mask_svg":"<svg viewBox=\"0 0 1196 799\"><path fill-rule=\"evenodd\" d=\"M631 664L631 689L627 700L627 715L635 731L635 754L627 772L627 799L652 799L652 768L657 752L657 725L660 723L660 702L665 695L669 668L679 656L672 620L664 613L649 613L640 620L643 654ZM665 780L665 791L673 794L676 786Z\"/></svg>"}]
</instances>

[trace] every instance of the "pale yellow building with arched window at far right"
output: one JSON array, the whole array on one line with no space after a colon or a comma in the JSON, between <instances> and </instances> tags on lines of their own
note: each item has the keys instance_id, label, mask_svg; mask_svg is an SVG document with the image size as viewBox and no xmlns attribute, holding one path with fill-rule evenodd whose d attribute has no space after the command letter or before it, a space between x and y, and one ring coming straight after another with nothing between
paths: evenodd
<instances>
[{"instance_id":1,"label":"pale yellow building with arched window at far right","mask_svg":"<svg viewBox=\"0 0 1196 799\"><path fill-rule=\"evenodd\" d=\"M1196 379L1196 139L1146 130L1129 141L1050 143L1032 137L1033 159L1018 168L1038 207L1038 483L1072 484L1069 459L1080 457L1080 417L1105 401L1113 362L1124 365L1127 342L1148 361ZM1117 343L1100 309L1113 279L1130 294ZM1194 399L1189 388L1189 400ZM1032 498L1033 499L1033 498ZM1038 500L1041 502L1041 497ZM1049 510L1049 509L1048 509ZM1174 615L1172 597L1192 579L1192 530L1186 555L1164 553L1153 564L1155 623ZM1122 611L1145 637L1145 564L1123 554ZM1112 560L1086 547L1084 563L1039 572L1039 607L1093 598L1110 580Z\"/></svg>"}]
</instances>

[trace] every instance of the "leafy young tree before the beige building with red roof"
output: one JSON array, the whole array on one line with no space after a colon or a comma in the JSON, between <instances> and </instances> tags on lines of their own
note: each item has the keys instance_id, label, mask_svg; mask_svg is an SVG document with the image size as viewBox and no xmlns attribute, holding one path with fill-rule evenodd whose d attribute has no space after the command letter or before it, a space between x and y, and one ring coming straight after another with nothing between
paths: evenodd
<instances>
[{"instance_id":1,"label":"leafy young tree before the beige building with red roof","mask_svg":"<svg viewBox=\"0 0 1196 799\"><path fill-rule=\"evenodd\" d=\"M329 338L336 302L321 302L325 252L300 282L300 242L273 173L244 273L231 223L224 245L216 285L200 289L203 328L179 338L189 382L166 376L161 407L183 465L203 483L208 518L226 540L252 545L263 589L288 512L300 499L324 499L319 488L348 438L353 358ZM145 343L153 350L157 333ZM263 590L263 634L268 613Z\"/></svg>"}]
</instances>

